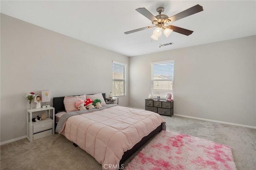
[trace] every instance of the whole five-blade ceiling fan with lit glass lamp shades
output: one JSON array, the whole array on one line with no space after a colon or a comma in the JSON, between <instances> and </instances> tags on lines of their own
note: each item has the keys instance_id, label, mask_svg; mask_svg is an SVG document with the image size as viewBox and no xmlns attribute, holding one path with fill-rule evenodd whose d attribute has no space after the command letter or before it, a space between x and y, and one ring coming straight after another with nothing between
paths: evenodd
<instances>
[{"instance_id":1,"label":"whole five-blade ceiling fan with lit glass lamp shades","mask_svg":"<svg viewBox=\"0 0 256 170\"><path fill-rule=\"evenodd\" d=\"M148 18L150 21L152 21L152 24L154 24L155 26L147 26L147 27L139 28L136 30L124 32L124 34L131 34L134 32L146 30L148 28L156 27L156 30L154 30L151 38L153 40L158 40L158 37L160 37L162 35L162 30L166 37L168 37L172 31L180 33L180 34L184 34L186 36L189 36L190 34L192 34L193 31L191 31L191 30L187 30L187 29L180 28L177 26L172 26L172 25L167 26L167 24L172 23L177 20L180 20L187 16L196 14L198 12L201 12L201 11L203 11L203 7L200 6L199 4L197 4L197 5L195 5L191 8L188 8L174 16L171 16L171 17L168 17L167 15L162 14L164 12L163 7L159 7L156 9L156 12L159 14L157 16L154 16L153 14L151 14L146 8L138 8L138 9L136 9L136 11L140 12L140 14L144 15L146 18Z\"/></svg>"}]
</instances>

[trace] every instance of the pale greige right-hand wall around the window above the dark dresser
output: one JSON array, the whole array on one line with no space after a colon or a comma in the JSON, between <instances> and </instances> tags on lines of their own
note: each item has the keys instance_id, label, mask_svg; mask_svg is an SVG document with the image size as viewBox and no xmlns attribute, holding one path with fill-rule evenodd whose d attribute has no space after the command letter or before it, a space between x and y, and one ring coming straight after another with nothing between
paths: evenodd
<instances>
[{"instance_id":1,"label":"pale greige right-hand wall around the window above the dark dresser","mask_svg":"<svg viewBox=\"0 0 256 170\"><path fill-rule=\"evenodd\" d=\"M250 36L130 57L130 107L145 108L150 63L174 59L174 115L256 126L255 42Z\"/></svg>"}]
</instances>

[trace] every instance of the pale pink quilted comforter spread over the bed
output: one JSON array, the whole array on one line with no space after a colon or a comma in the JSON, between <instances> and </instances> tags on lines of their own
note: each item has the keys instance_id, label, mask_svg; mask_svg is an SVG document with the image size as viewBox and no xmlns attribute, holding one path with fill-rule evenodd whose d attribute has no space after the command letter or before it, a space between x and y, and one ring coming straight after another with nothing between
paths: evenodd
<instances>
[{"instance_id":1,"label":"pale pink quilted comforter spread over the bed","mask_svg":"<svg viewBox=\"0 0 256 170\"><path fill-rule=\"evenodd\" d=\"M61 133L91 154L106 170L116 167L124 152L162 122L164 119L157 113L115 106L72 116Z\"/></svg>"}]
</instances>

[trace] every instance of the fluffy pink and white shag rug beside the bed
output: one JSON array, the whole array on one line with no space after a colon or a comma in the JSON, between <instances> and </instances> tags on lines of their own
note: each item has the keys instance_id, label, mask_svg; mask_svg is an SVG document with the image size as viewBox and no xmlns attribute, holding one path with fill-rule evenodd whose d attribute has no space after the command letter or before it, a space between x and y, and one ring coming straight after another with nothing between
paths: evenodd
<instances>
[{"instance_id":1,"label":"fluffy pink and white shag rug beside the bed","mask_svg":"<svg viewBox=\"0 0 256 170\"><path fill-rule=\"evenodd\" d=\"M236 170L236 165L229 146L162 130L124 169Z\"/></svg>"}]
</instances>

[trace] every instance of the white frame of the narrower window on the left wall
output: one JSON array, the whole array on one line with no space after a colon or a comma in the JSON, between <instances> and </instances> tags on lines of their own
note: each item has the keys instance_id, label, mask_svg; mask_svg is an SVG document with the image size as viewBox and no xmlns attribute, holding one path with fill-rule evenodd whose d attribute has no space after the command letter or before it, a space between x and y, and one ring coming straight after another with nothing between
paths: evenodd
<instances>
[{"instance_id":1,"label":"white frame of the narrower window on the left wall","mask_svg":"<svg viewBox=\"0 0 256 170\"><path fill-rule=\"evenodd\" d=\"M124 73L124 78L123 79L116 79L114 78L114 65L117 66L122 66L123 67L123 73ZM127 75L127 72L126 72L126 68L127 67L127 64L125 63L120 63L118 61L113 61L112 62L112 93L113 93L113 97L124 97L126 96L126 75ZM123 88L123 95L115 95L115 90L114 90L114 81L123 81L124 82L124 88Z\"/></svg>"}]
</instances>

